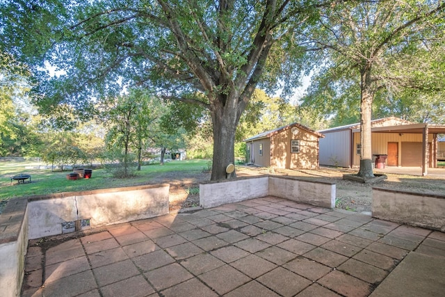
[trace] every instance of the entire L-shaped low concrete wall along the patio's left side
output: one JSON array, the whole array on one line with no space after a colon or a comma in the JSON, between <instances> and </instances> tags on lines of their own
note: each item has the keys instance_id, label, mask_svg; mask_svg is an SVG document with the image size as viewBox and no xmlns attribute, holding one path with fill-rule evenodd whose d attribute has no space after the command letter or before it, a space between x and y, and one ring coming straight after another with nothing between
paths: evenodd
<instances>
[{"instance_id":1,"label":"entire L-shaped low concrete wall along the patio's left side","mask_svg":"<svg viewBox=\"0 0 445 297\"><path fill-rule=\"evenodd\" d=\"M101 227L168 214L169 184L10 200L0 214L0 295L19 296L29 239L63 233L63 223Z\"/></svg>"}]
</instances>

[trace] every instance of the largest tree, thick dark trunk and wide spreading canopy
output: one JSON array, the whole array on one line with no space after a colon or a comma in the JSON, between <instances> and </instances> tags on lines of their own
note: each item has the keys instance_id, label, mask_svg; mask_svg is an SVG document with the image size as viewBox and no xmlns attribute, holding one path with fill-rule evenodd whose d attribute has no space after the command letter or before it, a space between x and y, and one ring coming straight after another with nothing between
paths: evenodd
<instances>
[{"instance_id":1,"label":"largest tree, thick dark trunk and wide spreading canopy","mask_svg":"<svg viewBox=\"0 0 445 297\"><path fill-rule=\"evenodd\" d=\"M304 51L293 33L309 24L320 5L289 0L15 1L2 5L7 21L1 26L2 42L35 67L46 62L65 72L38 90L44 93L38 105L53 114L85 113L92 98L122 86L144 86L159 97L204 106L213 125L211 178L219 179L234 162L236 126L254 89L298 85Z\"/></svg>"}]
</instances>

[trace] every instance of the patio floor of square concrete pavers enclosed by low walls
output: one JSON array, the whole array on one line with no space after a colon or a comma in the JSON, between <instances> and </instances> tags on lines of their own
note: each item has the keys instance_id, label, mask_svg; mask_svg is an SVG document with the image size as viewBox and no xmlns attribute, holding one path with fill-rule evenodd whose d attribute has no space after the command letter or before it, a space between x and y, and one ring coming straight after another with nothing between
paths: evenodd
<instances>
[{"instance_id":1,"label":"patio floor of square concrete pavers enclosed by low walls","mask_svg":"<svg viewBox=\"0 0 445 297\"><path fill-rule=\"evenodd\" d=\"M274 197L30 246L22 296L444 296L445 234Z\"/></svg>"}]
</instances>

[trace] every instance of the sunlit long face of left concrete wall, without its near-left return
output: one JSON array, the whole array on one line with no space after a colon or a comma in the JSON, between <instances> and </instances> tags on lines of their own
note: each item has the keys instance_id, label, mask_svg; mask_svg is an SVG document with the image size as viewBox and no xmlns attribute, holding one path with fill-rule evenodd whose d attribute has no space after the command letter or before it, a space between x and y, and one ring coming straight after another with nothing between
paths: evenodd
<instances>
[{"instance_id":1,"label":"sunlit long face of left concrete wall, without its near-left return","mask_svg":"<svg viewBox=\"0 0 445 297\"><path fill-rule=\"evenodd\" d=\"M30 198L29 239L62 234L62 223L102 227L168 214L170 185L131 186Z\"/></svg>"}]
</instances>

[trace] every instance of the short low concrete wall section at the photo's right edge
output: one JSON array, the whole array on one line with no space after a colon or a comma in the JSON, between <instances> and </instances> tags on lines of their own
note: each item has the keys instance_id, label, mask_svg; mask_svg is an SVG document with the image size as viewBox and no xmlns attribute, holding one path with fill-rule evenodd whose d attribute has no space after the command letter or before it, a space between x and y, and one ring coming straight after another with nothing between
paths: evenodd
<instances>
[{"instance_id":1,"label":"short low concrete wall section at the photo's right edge","mask_svg":"<svg viewBox=\"0 0 445 297\"><path fill-rule=\"evenodd\" d=\"M445 195L373 187L372 216L445 232Z\"/></svg>"}]
</instances>

